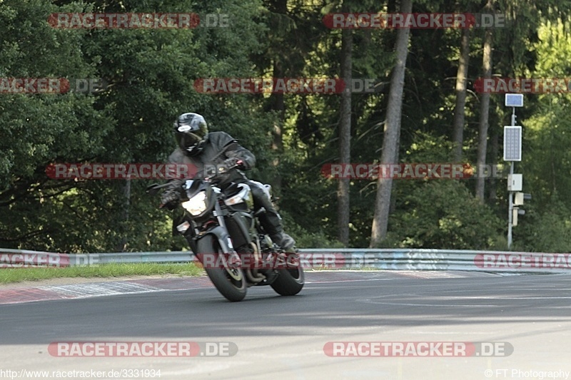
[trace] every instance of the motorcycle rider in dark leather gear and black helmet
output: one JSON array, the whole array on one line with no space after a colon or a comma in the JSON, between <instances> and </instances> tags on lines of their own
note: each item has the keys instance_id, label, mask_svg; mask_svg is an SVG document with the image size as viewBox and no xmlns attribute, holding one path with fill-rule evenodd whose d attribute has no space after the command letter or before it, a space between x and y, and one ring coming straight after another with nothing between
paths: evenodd
<instances>
[{"instance_id":1,"label":"motorcycle rider in dark leather gear and black helmet","mask_svg":"<svg viewBox=\"0 0 571 380\"><path fill-rule=\"evenodd\" d=\"M196 165L203 170L205 164L223 160L224 165L231 167L238 162L238 169L250 170L256 165L256 157L250 150L243 148L226 132L208 132L208 125L198 113L183 113L174 122L174 135L178 148L168 157L169 163ZM226 180L233 183L246 183L251 188L254 211L263 207L266 212L258 215L258 220L271 240L285 252L292 252L295 240L283 232L281 217L273 207L271 199L260 183L248 180L241 170L231 170ZM180 194L181 182L175 183L171 190L163 192L161 202L168 208L176 207Z\"/></svg>"}]
</instances>

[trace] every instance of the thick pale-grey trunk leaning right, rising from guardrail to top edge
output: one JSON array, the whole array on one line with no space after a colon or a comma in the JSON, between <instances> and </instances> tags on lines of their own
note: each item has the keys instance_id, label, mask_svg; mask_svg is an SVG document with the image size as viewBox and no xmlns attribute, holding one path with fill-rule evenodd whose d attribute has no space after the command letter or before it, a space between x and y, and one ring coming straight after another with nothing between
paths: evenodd
<instances>
[{"instance_id":1,"label":"thick pale-grey trunk leaning right, rising from guardrail to top edge","mask_svg":"<svg viewBox=\"0 0 571 380\"><path fill-rule=\"evenodd\" d=\"M413 9L413 0L402 0L400 11L410 13ZM381 164L394 164L397 157L398 136L400 133L400 116L403 109L403 91L405 86L405 68L408 55L408 36L410 29L402 28L397 31L395 51L397 61L390 78L390 92L388 98L387 118L383 137L383 153ZM388 215L390 209L390 192L393 188L393 178L383 178L379 175L377 183L377 196L375 200L375 217L371 230L370 247L378 247L388 230Z\"/></svg>"}]
</instances>

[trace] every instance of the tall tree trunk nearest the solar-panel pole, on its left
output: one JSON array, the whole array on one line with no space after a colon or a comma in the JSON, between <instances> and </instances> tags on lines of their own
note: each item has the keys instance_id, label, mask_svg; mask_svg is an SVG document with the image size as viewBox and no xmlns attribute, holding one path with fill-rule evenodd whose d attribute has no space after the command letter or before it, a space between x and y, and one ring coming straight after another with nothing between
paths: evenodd
<instances>
[{"instance_id":1,"label":"tall tree trunk nearest the solar-panel pole, on its left","mask_svg":"<svg viewBox=\"0 0 571 380\"><path fill-rule=\"evenodd\" d=\"M491 6L491 1L492 0L488 0L486 7ZM482 61L484 80L486 78L492 78L492 38L493 38L492 30L493 29L491 28L487 29L484 38L484 58ZM482 93L482 98L480 100L480 125L478 128L476 170L480 170L480 168L483 168L482 165L485 165L486 163L487 128L490 124L489 120L490 120L490 94ZM478 175L476 180L476 197L482 203L484 202L484 192L485 192L485 178L483 178L482 175Z\"/></svg>"}]
</instances>

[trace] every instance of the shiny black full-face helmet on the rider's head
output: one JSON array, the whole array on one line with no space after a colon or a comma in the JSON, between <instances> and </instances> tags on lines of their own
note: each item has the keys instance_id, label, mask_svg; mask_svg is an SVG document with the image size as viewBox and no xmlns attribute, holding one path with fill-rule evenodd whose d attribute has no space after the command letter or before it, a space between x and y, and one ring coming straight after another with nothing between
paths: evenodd
<instances>
[{"instance_id":1,"label":"shiny black full-face helmet on the rider's head","mask_svg":"<svg viewBox=\"0 0 571 380\"><path fill-rule=\"evenodd\" d=\"M182 150L188 155L196 155L208 140L208 125L198 113L183 113L174 122L174 135Z\"/></svg>"}]
</instances>

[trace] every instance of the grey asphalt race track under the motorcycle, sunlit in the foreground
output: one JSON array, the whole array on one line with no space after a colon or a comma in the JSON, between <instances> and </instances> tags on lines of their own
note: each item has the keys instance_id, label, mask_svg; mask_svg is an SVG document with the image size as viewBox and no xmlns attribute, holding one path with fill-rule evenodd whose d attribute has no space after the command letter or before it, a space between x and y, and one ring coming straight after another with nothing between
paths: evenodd
<instances>
[{"instance_id":1,"label":"grey asphalt race track under the motorcycle, sunlit in the foreground","mask_svg":"<svg viewBox=\"0 0 571 380\"><path fill-rule=\"evenodd\" d=\"M571 275L425 277L313 272L295 297L255 287L237 303L208 287L0 305L0 379L571 379ZM64 356L86 342L204 356Z\"/></svg>"}]
</instances>

